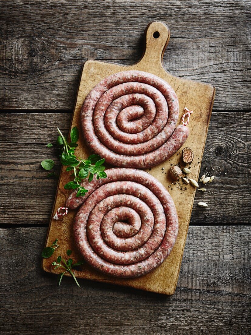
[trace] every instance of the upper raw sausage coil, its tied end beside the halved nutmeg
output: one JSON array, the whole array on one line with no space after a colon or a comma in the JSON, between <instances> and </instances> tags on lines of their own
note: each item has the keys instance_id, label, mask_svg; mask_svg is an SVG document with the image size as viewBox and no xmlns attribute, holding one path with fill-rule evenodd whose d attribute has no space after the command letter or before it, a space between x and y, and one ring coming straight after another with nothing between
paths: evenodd
<instances>
[{"instance_id":1,"label":"upper raw sausage coil, its tied end beside the halved nutmeg","mask_svg":"<svg viewBox=\"0 0 251 335\"><path fill-rule=\"evenodd\" d=\"M163 79L143 71L115 73L87 95L81 123L86 143L106 162L146 168L169 158L189 130L179 125L178 99Z\"/></svg>"}]
</instances>

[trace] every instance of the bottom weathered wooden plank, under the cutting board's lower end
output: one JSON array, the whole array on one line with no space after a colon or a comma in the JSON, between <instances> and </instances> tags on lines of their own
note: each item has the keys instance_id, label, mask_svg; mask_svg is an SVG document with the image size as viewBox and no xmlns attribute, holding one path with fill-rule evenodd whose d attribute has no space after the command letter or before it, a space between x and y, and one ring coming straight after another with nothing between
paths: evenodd
<instances>
[{"instance_id":1,"label":"bottom weathered wooden plank, under the cutting board's lower end","mask_svg":"<svg viewBox=\"0 0 251 335\"><path fill-rule=\"evenodd\" d=\"M190 227L171 297L67 277L57 288L39 264L45 236L0 229L2 335L249 334L251 227Z\"/></svg>"}]
</instances>

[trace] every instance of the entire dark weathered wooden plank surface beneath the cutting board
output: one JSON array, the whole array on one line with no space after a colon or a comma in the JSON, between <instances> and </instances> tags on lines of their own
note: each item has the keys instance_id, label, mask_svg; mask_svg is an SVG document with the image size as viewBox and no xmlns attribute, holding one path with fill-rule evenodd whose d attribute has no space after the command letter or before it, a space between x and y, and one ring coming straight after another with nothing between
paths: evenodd
<instances>
[{"instance_id":1,"label":"entire dark weathered wooden plank surface beneath the cutting board","mask_svg":"<svg viewBox=\"0 0 251 335\"><path fill-rule=\"evenodd\" d=\"M83 62L133 64L156 19L171 30L165 68L216 87L201 169L216 178L196 193L176 292L57 288L40 268L57 185L41 160L59 171L45 144L69 131ZM0 21L1 334L249 334L249 2L1 0Z\"/></svg>"}]
</instances>

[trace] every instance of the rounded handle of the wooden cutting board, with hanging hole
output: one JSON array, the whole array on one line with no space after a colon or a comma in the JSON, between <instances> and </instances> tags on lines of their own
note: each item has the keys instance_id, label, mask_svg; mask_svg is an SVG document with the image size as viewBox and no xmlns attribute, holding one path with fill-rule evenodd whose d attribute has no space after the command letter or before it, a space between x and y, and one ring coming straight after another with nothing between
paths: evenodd
<instances>
[{"instance_id":1,"label":"rounded handle of the wooden cutting board, with hanging hole","mask_svg":"<svg viewBox=\"0 0 251 335\"><path fill-rule=\"evenodd\" d=\"M170 39L170 30L161 21L153 21L145 29L145 50L139 63L151 63L152 67L163 67L163 54Z\"/></svg>"}]
</instances>

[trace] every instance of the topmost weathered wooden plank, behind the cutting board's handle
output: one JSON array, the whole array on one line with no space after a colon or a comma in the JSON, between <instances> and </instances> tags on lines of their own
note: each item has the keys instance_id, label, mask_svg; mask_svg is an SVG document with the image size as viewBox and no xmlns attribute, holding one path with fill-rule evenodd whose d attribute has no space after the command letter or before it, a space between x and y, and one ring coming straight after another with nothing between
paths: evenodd
<instances>
[{"instance_id":1,"label":"topmost weathered wooden plank, behind the cutting board's handle","mask_svg":"<svg viewBox=\"0 0 251 335\"><path fill-rule=\"evenodd\" d=\"M213 84L217 109L250 108L248 0L1 1L0 20L0 108L73 109L83 63L135 63L152 20L171 30L166 70Z\"/></svg>"}]
</instances>

